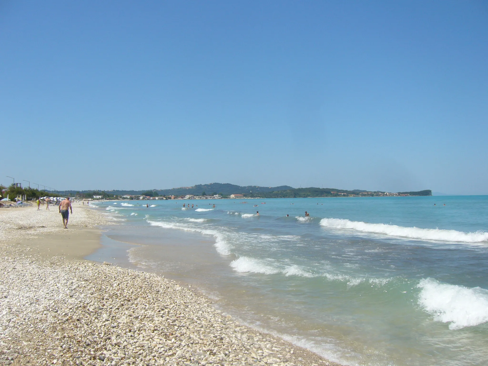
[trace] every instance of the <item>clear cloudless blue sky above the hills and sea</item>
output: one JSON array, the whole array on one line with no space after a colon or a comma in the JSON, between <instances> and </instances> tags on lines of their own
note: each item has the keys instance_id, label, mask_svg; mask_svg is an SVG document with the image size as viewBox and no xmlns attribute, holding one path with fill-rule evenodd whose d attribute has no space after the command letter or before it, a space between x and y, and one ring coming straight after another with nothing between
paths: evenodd
<instances>
[{"instance_id":1,"label":"clear cloudless blue sky above the hills and sea","mask_svg":"<svg viewBox=\"0 0 488 366\"><path fill-rule=\"evenodd\" d=\"M0 1L0 183L488 194L487 66L486 1Z\"/></svg>"}]
</instances>

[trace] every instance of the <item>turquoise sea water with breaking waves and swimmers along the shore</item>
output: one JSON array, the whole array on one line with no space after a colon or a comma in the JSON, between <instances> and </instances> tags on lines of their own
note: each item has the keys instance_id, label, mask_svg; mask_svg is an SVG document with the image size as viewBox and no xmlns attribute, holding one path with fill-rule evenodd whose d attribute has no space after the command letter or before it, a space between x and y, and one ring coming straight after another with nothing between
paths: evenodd
<instances>
[{"instance_id":1,"label":"turquoise sea water with breaking waves and swimmers along the shore","mask_svg":"<svg viewBox=\"0 0 488 366\"><path fill-rule=\"evenodd\" d=\"M95 205L121 224L93 259L196 286L333 361L488 365L488 196Z\"/></svg>"}]
</instances>

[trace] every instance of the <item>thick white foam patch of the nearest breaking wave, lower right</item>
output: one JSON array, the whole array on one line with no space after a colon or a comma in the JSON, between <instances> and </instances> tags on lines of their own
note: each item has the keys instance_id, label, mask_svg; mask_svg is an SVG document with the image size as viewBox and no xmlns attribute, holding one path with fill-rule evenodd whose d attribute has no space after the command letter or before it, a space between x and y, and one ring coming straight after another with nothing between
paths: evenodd
<instances>
[{"instance_id":1,"label":"thick white foam patch of the nearest breaking wave, lower right","mask_svg":"<svg viewBox=\"0 0 488 366\"><path fill-rule=\"evenodd\" d=\"M435 279L422 279L419 304L434 320L448 323L449 329L460 329L488 322L488 290L442 284Z\"/></svg>"}]
</instances>

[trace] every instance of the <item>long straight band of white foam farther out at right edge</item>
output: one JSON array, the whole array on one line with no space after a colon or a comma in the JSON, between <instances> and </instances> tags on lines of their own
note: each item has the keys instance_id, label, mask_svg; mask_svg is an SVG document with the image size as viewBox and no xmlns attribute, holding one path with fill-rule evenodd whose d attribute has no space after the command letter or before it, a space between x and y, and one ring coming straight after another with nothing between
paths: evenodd
<instances>
[{"instance_id":1,"label":"long straight band of white foam farther out at right edge","mask_svg":"<svg viewBox=\"0 0 488 366\"><path fill-rule=\"evenodd\" d=\"M404 227L398 225L369 224L362 221L350 221L347 219L322 219L320 224L324 227L352 229L367 233L385 234L410 239L464 243L481 243L488 241L487 232L465 233L456 230L421 229L418 227Z\"/></svg>"}]
</instances>

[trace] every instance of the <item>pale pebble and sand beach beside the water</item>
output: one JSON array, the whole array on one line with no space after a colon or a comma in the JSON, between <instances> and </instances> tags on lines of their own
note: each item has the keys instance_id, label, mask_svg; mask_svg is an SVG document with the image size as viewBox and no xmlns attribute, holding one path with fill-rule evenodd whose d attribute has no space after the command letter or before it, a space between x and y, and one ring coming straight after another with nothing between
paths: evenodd
<instances>
[{"instance_id":1,"label":"pale pebble and sand beach beside the water","mask_svg":"<svg viewBox=\"0 0 488 366\"><path fill-rule=\"evenodd\" d=\"M186 285L83 258L101 213L0 210L4 365L336 365L239 324Z\"/></svg>"}]
</instances>

